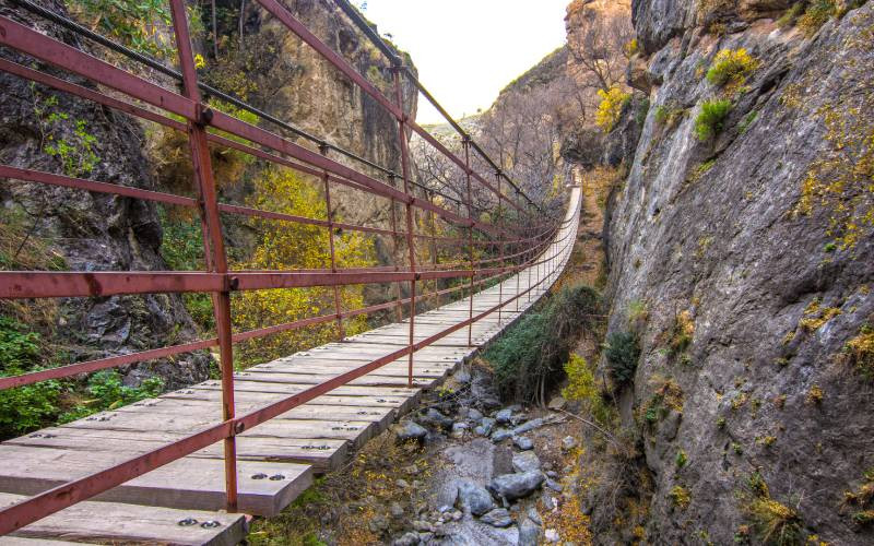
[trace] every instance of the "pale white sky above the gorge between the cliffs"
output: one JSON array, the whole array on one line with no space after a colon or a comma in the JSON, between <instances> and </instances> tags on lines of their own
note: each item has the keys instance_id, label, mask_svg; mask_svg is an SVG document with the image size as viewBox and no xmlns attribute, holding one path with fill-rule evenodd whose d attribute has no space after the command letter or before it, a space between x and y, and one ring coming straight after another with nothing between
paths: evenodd
<instances>
[{"instance_id":1,"label":"pale white sky above the gorge between the cliffs","mask_svg":"<svg viewBox=\"0 0 874 546\"><path fill-rule=\"evenodd\" d=\"M570 0L367 0L364 14L409 51L418 79L459 119L565 43ZM355 2L361 5L362 1ZM420 97L420 123L442 117Z\"/></svg>"}]
</instances>

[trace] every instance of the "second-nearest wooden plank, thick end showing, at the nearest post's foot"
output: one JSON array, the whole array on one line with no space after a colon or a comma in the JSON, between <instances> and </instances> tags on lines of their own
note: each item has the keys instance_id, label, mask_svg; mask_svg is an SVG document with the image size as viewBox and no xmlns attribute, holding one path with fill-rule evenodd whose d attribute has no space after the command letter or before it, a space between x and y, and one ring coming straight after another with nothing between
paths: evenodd
<instances>
[{"instance_id":1,"label":"second-nearest wooden plank, thick end showing, at the nearest post's foot","mask_svg":"<svg viewBox=\"0 0 874 546\"><path fill-rule=\"evenodd\" d=\"M0 490L35 495L71 479L135 456L129 451L67 451L52 448L0 446ZM312 485L312 467L294 463L239 461L239 509L275 515ZM252 476L282 476L256 479ZM224 462L186 456L135 477L95 500L189 510L221 510L225 506Z\"/></svg>"}]
</instances>

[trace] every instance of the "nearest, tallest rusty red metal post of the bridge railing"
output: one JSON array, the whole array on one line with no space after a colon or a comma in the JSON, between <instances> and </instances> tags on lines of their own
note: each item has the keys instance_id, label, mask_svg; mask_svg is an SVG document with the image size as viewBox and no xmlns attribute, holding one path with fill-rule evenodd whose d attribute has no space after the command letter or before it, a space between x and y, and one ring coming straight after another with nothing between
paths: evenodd
<instances>
[{"instance_id":1,"label":"nearest, tallest rusty red metal post of the bridge railing","mask_svg":"<svg viewBox=\"0 0 874 546\"><path fill-rule=\"evenodd\" d=\"M218 216L218 202L215 194L215 180L213 179L212 159L206 143L205 126L212 119L212 110L204 108L198 88L198 76L194 68L194 56L191 50L191 38L188 32L185 0L170 0L173 28L176 35L176 45L179 56L179 67L182 71L185 94L200 107L199 122L188 122L188 142L191 150L191 163L194 180L200 191L201 207L204 223L208 227L203 234L204 250L212 251L212 269L215 273L227 274L227 254L225 253L224 239L222 238L221 217ZM234 348L231 329L231 293L229 282L225 289L213 294L213 310L215 328L218 336L220 366L222 372L222 419L234 418ZM224 440L225 460L225 495L227 497L227 511L237 511L237 447L235 437L228 436Z\"/></svg>"}]
</instances>

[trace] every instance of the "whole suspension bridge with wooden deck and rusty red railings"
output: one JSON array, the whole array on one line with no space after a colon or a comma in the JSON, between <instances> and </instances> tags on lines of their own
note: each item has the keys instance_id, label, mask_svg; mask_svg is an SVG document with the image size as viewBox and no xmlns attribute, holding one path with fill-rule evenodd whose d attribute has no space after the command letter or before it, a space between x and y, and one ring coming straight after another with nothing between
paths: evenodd
<instances>
[{"instance_id":1,"label":"whole suspension bridge with wooden deck and rusty red railings","mask_svg":"<svg viewBox=\"0 0 874 546\"><path fill-rule=\"evenodd\" d=\"M169 1L179 71L81 27L62 14L24 0L14 3L22 13L43 17L179 82L181 92L162 87L22 21L0 16L0 45L42 67L0 58L0 70L187 134L198 198L9 165L0 165L2 183L42 183L190 207L200 214L204 227L206 266L188 272L3 271L0 298L209 293L216 335L2 377L0 390L211 347L217 348L221 378L0 443L4 462L0 466L0 535L4 535L0 544L237 544L246 534L246 514L279 513L312 484L314 475L338 468L353 450L414 410L425 390L438 385L535 305L570 257L579 223L580 188L568 185L563 216L553 217L543 211L446 115L393 49L345 1L338 1L339 7L394 67L393 100L283 4L275 0L259 3L397 119L399 173L200 82L184 0ZM51 71L46 70L49 66ZM97 85L71 83L57 75L59 71ZM412 81L458 131L461 155L405 114L402 78ZM223 114L211 107L202 93L223 96L259 116L261 123L249 124ZM294 139L287 135L290 131ZM465 191L456 189L453 193L416 180L408 151L412 133L444 154ZM327 217L292 216L220 201L212 179L210 146L237 150L320 181ZM336 222L331 204L331 189L336 185L385 200L391 211L391 226ZM475 202L474 186L488 199ZM484 214L489 211L492 214ZM223 214L321 227L330 248L330 268L232 270L222 232ZM422 216L430 219L430 233L421 233L423 223L417 218ZM434 230L437 223L446 235ZM394 246L395 256L406 257L404 263L354 270L338 266L334 238L340 228L383 237ZM427 252L427 248L438 246L449 250ZM441 263L440 257L447 254L451 260ZM361 309L341 306L340 288L367 284L395 286L397 298ZM406 297L401 285L408 288ZM334 312L234 331L233 293L292 287L332 289ZM442 304L446 300L451 302ZM344 335L344 320L387 310L398 312L399 319L362 334ZM235 344L317 324L335 324L336 341L234 371Z\"/></svg>"}]
</instances>

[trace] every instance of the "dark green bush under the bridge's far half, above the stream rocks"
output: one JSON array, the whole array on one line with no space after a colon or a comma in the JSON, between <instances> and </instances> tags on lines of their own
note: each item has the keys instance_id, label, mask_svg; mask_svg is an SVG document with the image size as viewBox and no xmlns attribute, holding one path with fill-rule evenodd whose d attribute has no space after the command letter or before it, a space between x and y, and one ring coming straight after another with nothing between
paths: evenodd
<instances>
[{"instance_id":1,"label":"dark green bush under the bridge's far half, above the stream rocks","mask_svg":"<svg viewBox=\"0 0 874 546\"><path fill-rule=\"evenodd\" d=\"M579 334L598 328L602 309L598 292L577 284L519 319L483 355L495 368L501 394L542 401L546 388L562 377Z\"/></svg>"}]
</instances>

